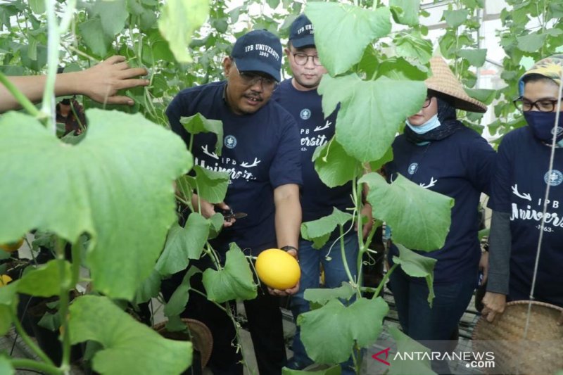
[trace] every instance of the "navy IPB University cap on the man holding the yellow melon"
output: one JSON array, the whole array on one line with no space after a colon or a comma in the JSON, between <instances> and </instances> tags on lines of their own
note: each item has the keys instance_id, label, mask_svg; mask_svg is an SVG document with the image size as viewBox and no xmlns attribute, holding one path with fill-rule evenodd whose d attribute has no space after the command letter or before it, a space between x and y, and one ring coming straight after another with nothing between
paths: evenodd
<instances>
[{"instance_id":1,"label":"navy IPB University cap on the man holding the yellow melon","mask_svg":"<svg viewBox=\"0 0 563 375\"><path fill-rule=\"evenodd\" d=\"M279 82L281 42L267 30L247 32L236 42L231 53L239 72L263 72Z\"/></svg>"}]
</instances>

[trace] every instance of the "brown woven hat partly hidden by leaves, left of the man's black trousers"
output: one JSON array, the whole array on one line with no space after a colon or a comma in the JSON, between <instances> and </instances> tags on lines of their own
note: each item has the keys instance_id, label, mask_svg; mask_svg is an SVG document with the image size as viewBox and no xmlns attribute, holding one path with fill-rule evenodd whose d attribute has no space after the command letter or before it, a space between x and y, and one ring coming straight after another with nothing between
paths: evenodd
<instances>
[{"instance_id":1,"label":"brown woven hat partly hidden by leaves, left of the man's black trousers","mask_svg":"<svg viewBox=\"0 0 563 375\"><path fill-rule=\"evenodd\" d=\"M191 335L191 343L194 345L194 349L201 353L201 368L203 369L211 357L211 352L213 351L213 336L208 326L203 324L196 319L182 318L182 322L186 324ZM166 331L166 323L161 322L153 326L153 329L160 333L160 335L165 338L170 338L172 340L183 340L183 332L168 332Z\"/></svg>"}]
</instances>

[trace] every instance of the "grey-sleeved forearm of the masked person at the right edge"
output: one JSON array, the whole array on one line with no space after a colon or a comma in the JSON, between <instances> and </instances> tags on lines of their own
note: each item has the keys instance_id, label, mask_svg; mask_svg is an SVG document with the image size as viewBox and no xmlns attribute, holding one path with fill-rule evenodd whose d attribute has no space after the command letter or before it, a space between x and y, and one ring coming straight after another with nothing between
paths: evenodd
<instances>
[{"instance_id":1,"label":"grey-sleeved forearm of the masked person at the right edge","mask_svg":"<svg viewBox=\"0 0 563 375\"><path fill-rule=\"evenodd\" d=\"M511 243L510 213L493 211L489 234L487 291L508 294Z\"/></svg>"}]
</instances>

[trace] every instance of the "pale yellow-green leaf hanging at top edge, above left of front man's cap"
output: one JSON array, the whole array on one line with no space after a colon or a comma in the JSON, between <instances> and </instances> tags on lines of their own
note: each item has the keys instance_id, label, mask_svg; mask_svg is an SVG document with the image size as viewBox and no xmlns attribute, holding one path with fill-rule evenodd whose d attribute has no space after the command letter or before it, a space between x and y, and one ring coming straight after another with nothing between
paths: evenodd
<instances>
[{"instance_id":1,"label":"pale yellow-green leaf hanging at top edge, above left of front man's cap","mask_svg":"<svg viewBox=\"0 0 563 375\"><path fill-rule=\"evenodd\" d=\"M158 19L158 29L179 63L191 63L189 42L208 15L209 0L166 1Z\"/></svg>"}]
</instances>

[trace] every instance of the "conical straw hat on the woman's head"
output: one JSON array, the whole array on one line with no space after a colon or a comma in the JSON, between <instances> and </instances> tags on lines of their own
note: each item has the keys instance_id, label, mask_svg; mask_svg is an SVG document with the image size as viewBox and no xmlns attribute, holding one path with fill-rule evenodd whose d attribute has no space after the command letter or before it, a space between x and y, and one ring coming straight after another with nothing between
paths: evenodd
<instances>
[{"instance_id":1,"label":"conical straw hat on the woman's head","mask_svg":"<svg viewBox=\"0 0 563 375\"><path fill-rule=\"evenodd\" d=\"M462 84L441 56L430 59L430 68L432 76L424 81L426 87L450 96L455 108L468 112L486 112L487 106L465 93Z\"/></svg>"}]
</instances>

